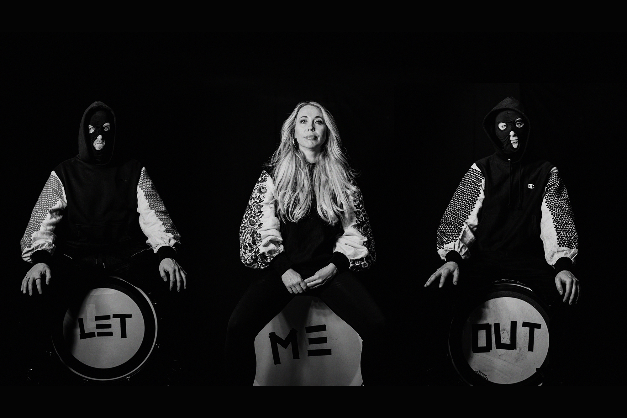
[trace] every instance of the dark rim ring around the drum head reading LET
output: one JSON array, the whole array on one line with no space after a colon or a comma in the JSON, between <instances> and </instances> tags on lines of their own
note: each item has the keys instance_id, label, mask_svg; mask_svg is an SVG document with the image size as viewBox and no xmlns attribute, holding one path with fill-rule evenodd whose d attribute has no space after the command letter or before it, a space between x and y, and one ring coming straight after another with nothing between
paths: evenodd
<instances>
[{"instance_id":1,"label":"dark rim ring around the drum head reading LET","mask_svg":"<svg viewBox=\"0 0 627 418\"><path fill-rule=\"evenodd\" d=\"M127 286L124 286L124 284ZM152 306L152 302L147 294L145 294L145 292L139 287L134 286L134 284L125 281L121 277L110 276L96 279L92 282L92 284L90 284L87 290L96 289L98 287L121 291L137 304L142 314L148 313L149 311L152 312L152 319L154 319L154 321L150 321L149 316L144 314L144 340L142 340L137 353L127 360L127 362L119 366L111 368L97 368L81 363L70 353L70 351L65 349L65 338L63 337L62 329L56 330L55 328L52 330L51 336L53 346L55 347L55 351L61 359L61 362L77 375L89 380L97 381L121 380L139 372L152 354L157 341L157 313L155 313L154 306ZM63 312L60 313L60 316L62 314L63 318L65 318L66 312L67 309L63 310ZM63 318L61 318L61 320L63 320ZM56 323L56 321L53 321L53 324L54 323Z\"/></svg>"}]
</instances>

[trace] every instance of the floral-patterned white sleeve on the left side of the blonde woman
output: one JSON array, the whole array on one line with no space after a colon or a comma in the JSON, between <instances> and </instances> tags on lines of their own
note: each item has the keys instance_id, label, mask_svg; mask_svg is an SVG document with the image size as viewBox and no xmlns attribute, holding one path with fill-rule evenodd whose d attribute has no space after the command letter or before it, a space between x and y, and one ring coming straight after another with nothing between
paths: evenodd
<instances>
[{"instance_id":1,"label":"floral-patterned white sleeve on the left side of the blonde woman","mask_svg":"<svg viewBox=\"0 0 627 418\"><path fill-rule=\"evenodd\" d=\"M270 174L263 171L248 199L240 225L240 259L251 269L265 269L283 252L277 200Z\"/></svg>"}]
</instances>

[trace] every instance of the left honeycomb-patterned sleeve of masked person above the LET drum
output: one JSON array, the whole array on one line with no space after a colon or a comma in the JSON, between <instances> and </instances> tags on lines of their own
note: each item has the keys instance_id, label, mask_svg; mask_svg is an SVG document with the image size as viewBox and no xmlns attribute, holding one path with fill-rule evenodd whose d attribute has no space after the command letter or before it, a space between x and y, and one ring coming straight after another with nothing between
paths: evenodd
<instances>
[{"instance_id":1,"label":"left honeycomb-patterned sleeve of masked person above the LET drum","mask_svg":"<svg viewBox=\"0 0 627 418\"><path fill-rule=\"evenodd\" d=\"M20 242L22 258L25 261L32 263L31 255L37 250L46 250L50 255L55 253L55 227L61 222L62 212L67 206L65 189L53 171L35 203L31 219Z\"/></svg>"}]
</instances>

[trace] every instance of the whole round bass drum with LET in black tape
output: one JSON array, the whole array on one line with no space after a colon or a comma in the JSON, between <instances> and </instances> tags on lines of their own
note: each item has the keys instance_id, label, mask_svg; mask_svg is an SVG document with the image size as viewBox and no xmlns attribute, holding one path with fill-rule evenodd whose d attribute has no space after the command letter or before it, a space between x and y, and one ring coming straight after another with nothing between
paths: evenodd
<instances>
[{"instance_id":1,"label":"whole round bass drum with LET in black tape","mask_svg":"<svg viewBox=\"0 0 627 418\"><path fill-rule=\"evenodd\" d=\"M95 282L57 323L52 341L61 362L89 380L134 375L157 340L157 315L149 297L120 277Z\"/></svg>"}]
</instances>

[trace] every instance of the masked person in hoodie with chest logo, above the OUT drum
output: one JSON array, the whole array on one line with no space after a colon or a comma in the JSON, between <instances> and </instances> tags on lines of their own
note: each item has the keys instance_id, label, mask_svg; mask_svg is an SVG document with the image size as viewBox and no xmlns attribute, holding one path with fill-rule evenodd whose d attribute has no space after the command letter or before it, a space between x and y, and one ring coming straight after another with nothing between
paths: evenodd
<instances>
[{"instance_id":1,"label":"masked person in hoodie with chest logo, above the OUT drum","mask_svg":"<svg viewBox=\"0 0 627 418\"><path fill-rule=\"evenodd\" d=\"M534 265L529 271L545 277L570 271L577 232L568 192L553 164L525 159L531 124L522 104L507 97L488 112L483 128L495 153L472 164L446 208L437 233L441 259L457 264L489 259L505 270ZM426 286L438 272L443 280L452 273L441 269ZM551 285L556 292L549 281L547 299Z\"/></svg>"}]
</instances>

